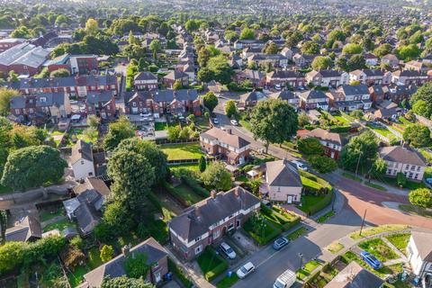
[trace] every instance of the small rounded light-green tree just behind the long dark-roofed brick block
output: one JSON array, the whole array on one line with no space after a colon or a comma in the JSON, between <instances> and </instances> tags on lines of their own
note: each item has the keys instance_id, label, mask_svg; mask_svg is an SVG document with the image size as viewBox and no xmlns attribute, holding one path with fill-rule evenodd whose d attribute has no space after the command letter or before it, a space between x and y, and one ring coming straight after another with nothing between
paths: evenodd
<instances>
[{"instance_id":1,"label":"small rounded light-green tree just behind the long dark-roofed brick block","mask_svg":"<svg viewBox=\"0 0 432 288\"><path fill-rule=\"evenodd\" d=\"M212 162L201 175L202 182L217 191L232 187L231 175L222 162Z\"/></svg>"}]
</instances>

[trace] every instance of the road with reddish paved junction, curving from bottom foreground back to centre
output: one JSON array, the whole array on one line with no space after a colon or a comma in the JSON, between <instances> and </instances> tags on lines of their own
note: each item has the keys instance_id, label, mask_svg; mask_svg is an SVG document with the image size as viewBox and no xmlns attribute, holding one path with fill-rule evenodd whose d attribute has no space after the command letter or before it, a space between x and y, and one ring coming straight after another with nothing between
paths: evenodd
<instances>
[{"instance_id":1,"label":"road with reddish paved junction, curving from bottom foreground back to centre","mask_svg":"<svg viewBox=\"0 0 432 288\"><path fill-rule=\"evenodd\" d=\"M223 105L227 100L220 98L220 103L214 110L220 122L218 126L223 125L225 128L231 129L234 134L247 139L252 148L264 148L262 142L253 139L250 131L230 124L223 111ZM290 160L295 158L283 148L275 146L270 146L268 153L279 158L286 157ZM386 193L359 184L340 175L340 171L326 175L325 178L340 191L338 196L338 202L341 204L340 212L324 224L315 224L314 227L309 226L309 232L306 236L297 238L281 251L276 252L273 247L268 246L251 257L242 259L238 266L251 261L257 267L257 271L252 275L248 275L246 279L239 280L234 287L272 287L277 276L281 275L286 269L296 271L301 267L299 253L302 253L302 263L304 264L313 258L320 257L324 253L323 248L333 241L359 229L365 210L367 210L366 225L401 223L432 229L432 220L403 214L400 211L383 207L382 202L408 202L405 195ZM232 270L235 272L238 266L232 267Z\"/></svg>"}]
</instances>

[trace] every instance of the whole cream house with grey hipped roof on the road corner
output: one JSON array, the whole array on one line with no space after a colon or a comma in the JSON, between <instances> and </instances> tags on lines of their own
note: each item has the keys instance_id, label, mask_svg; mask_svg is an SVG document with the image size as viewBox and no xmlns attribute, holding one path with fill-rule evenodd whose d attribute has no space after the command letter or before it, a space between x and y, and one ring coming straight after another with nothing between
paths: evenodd
<instances>
[{"instance_id":1,"label":"whole cream house with grey hipped roof on the road corner","mask_svg":"<svg viewBox=\"0 0 432 288\"><path fill-rule=\"evenodd\" d=\"M266 163L266 178L259 192L268 195L270 201L300 202L302 188L299 171L291 162L285 159Z\"/></svg>"}]
</instances>

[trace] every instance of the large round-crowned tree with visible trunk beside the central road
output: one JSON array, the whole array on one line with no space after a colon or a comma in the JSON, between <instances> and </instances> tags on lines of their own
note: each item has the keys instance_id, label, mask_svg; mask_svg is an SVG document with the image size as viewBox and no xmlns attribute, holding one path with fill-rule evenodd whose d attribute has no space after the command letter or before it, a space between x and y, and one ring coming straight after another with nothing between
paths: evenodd
<instances>
[{"instance_id":1,"label":"large round-crowned tree with visible trunk beside the central road","mask_svg":"<svg viewBox=\"0 0 432 288\"><path fill-rule=\"evenodd\" d=\"M256 139L282 144L297 130L297 113L293 107L280 99L268 99L257 103L250 117L251 131Z\"/></svg>"}]
</instances>

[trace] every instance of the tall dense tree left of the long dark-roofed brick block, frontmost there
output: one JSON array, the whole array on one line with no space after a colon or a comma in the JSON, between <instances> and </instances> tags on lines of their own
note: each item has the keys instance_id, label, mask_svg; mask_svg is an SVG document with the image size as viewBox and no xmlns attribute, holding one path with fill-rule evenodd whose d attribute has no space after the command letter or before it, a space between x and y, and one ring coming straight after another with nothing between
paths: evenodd
<instances>
[{"instance_id":1,"label":"tall dense tree left of the long dark-roofed brick block, frontmost there","mask_svg":"<svg viewBox=\"0 0 432 288\"><path fill-rule=\"evenodd\" d=\"M155 182L155 169L146 157L126 149L115 150L108 162L108 175L114 199L125 202L131 211L139 212Z\"/></svg>"}]
</instances>

